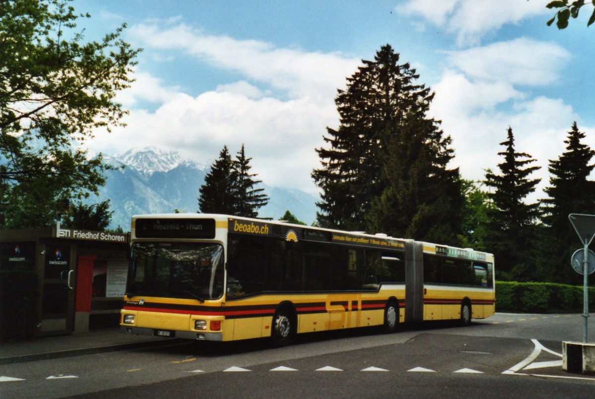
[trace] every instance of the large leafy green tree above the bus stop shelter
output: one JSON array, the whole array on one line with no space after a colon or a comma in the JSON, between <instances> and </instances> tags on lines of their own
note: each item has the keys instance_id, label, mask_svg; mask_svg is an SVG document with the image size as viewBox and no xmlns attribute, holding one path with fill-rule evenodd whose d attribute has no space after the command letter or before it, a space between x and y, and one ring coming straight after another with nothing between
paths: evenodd
<instances>
[{"instance_id":1,"label":"large leafy green tree above the bus stop shelter","mask_svg":"<svg viewBox=\"0 0 595 399\"><path fill-rule=\"evenodd\" d=\"M68 0L12 0L0 7L0 221L23 213L27 190L84 197L104 184L102 157L81 144L98 128L121 125L114 98L129 86L139 50L120 39L125 25L101 42L84 42ZM35 196L33 196L35 197ZM34 204L26 204L25 206ZM43 219L43 218L42 218ZM40 219L39 224L45 221ZM32 224L36 224L33 222ZM36 224L36 225L39 225Z\"/></svg>"}]
</instances>

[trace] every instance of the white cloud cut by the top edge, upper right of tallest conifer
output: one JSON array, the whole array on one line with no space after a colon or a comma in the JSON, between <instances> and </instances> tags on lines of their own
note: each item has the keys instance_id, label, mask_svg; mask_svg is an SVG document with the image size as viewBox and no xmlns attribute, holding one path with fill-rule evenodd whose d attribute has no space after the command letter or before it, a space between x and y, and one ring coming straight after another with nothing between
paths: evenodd
<instances>
[{"instance_id":1,"label":"white cloud cut by the top edge, upper right of tallest conifer","mask_svg":"<svg viewBox=\"0 0 595 399\"><path fill-rule=\"evenodd\" d=\"M458 45L473 45L505 24L518 24L534 15L547 14L544 2L531 0L410 0L398 12L417 15L456 34ZM551 13L551 12L550 12Z\"/></svg>"}]
</instances>

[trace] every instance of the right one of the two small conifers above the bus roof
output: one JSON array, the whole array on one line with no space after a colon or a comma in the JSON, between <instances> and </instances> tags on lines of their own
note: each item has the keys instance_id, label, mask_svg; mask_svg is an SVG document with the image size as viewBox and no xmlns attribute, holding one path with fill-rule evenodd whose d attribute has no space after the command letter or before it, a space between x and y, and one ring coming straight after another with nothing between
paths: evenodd
<instances>
[{"instance_id":1,"label":"right one of the two small conifers above the bus roof","mask_svg":"<svg viewBox=\"0 0 595 399\"><path fill-rule=\"evenodd\" d=\"M250 174L250 160L246 158L244 144L242 150L237 153L233 161L233 168L236 172L236 213L237 216L255 218L258 216L258 208L268 203L268 196L264 194L264 188L254 188L261 180L253 180L256 174Z\"/></svg>"}]
</instances>

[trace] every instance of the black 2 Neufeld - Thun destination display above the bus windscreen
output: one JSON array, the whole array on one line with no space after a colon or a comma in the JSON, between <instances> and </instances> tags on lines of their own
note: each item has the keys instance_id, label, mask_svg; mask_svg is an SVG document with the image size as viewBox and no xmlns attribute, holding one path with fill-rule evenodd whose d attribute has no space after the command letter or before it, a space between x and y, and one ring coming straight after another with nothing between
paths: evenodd
<instances>
[{"instance_id":1,"label":"black 2 Neufeld - Thun destination display above the bus windscreen","mask_svg":"<svg viewBox=\"0 0 595 399\"><path fill-rule=\"evenodd\" d=\"M215 219L136 219L137 238L215 238Z\"/></svg>"}]
</instances>

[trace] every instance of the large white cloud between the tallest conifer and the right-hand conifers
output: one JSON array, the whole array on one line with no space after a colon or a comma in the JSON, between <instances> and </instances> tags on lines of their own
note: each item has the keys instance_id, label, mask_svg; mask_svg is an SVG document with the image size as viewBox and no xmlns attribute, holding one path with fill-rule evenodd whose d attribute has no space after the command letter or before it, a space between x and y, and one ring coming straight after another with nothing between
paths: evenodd
<instances>
[{"instance_id":1,"label":"large white cloud between the tallest conifer and the right-hand conifers","mask_svg":"<svg viewBox=\"0 0 595 399\"><path fill-rule=\"evenodd\" d=\"M499 172L503 159L497 153L512 127L515 149L541 166L532 176L541 178L539 189L528 200L540 199L549 184L549 160L563 152L566 132L578 116L563 100L534 96L531 90L555 84L568 54L524 38L447 54L431 112L453 138L453 166L473 180L483 180L488 168Z\"/></svg>"}]
</instances>

